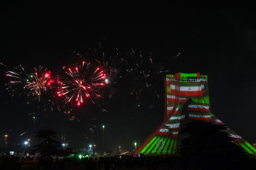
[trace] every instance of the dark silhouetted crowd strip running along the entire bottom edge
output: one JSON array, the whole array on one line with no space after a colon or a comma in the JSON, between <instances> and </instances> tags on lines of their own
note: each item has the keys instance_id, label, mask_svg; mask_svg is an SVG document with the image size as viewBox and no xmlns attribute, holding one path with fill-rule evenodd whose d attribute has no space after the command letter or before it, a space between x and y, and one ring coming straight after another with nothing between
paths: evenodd
<instances>
[{"instance_id":1,"label":"dark silhouetted crowd strip running along the entire bottom edge","mask_svg":"<svg viewBox=\"0 0 256 170\"><path fill-rule=\"evenodd\" d=\"M115 169L255 169L255 158L233 162L177 155L113 155L111 157L0 157L0 169L15 170L115 170Z\"/></svg>"}]
</instances>

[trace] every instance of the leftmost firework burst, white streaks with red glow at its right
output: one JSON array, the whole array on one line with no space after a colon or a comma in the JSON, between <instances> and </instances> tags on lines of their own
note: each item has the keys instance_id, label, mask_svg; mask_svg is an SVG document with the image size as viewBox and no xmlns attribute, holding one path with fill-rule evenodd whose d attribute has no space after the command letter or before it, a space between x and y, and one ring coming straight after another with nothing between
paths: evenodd
<instances>
[{"instance_id":1,"label":"leftmost firework burst, white streaks with red glow at its right","mask_svg":"<svg viewBox=\"0 0 256 170\"><path fill-rule=\"evenodd\" d=\"M38 101L40 101L43 91L46 92L54 82L50 79L50 71L41 66L35 67L33 72L28 72L26 67L18 65L14 67L14 71L7 71L6 77L10 78L9 84L6 85L11 96L26 94Z\"/></svg>"}]
</instances>

